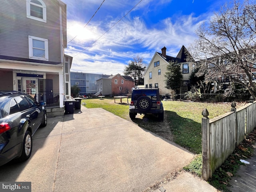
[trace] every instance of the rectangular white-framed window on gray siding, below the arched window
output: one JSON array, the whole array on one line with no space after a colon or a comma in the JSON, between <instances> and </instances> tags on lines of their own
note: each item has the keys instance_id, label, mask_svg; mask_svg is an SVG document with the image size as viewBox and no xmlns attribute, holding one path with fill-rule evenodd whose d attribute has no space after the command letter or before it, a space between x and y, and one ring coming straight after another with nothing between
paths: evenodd
<instances>
[{"instance_id":1,"label":"rectangular white-framed window on gray siding, below the arched window","mask_svg":"<svg viewBox=\"0 0 256 192\"><path fill-rule=\"evenodd\" d=\"M28 36L29 58L48 61L48 39Z\"/></svg>"}]
</instances>

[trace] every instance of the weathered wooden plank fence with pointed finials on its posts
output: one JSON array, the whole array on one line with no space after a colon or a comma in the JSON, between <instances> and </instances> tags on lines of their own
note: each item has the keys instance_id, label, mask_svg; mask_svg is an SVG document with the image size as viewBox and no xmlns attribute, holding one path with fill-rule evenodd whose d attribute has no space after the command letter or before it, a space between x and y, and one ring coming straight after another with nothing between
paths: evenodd
<instances>
[{"instance_id":1,"label":"weathered wooden plank fence with pointed finials on its posts","mask_svg":"<svg viewBox=\"0 0 256 192\"><path fill-rule=\"evenodd\" d=\"M212 178L212 173L232 154L245 139L245 135L256 128L256 102L236 109L235 102L231 111L209 120L208 111L202 112L202 178Z\"/></svg>"}]
</instances>

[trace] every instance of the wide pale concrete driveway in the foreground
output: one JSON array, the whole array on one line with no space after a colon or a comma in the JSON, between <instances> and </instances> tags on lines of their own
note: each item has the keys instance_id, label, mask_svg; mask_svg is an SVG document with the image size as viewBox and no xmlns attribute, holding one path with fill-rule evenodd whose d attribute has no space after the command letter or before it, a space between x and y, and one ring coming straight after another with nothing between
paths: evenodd
<instances>
[{"instance_id":1,"label":"wide pale concrete driveway in the foreground","mask_svg":"<svg viewBox=\"0 0 256 192\"><path fill-rule=\"evenodd\" d=\"M188 164L193 154L101 108L48 118L26 162L0 167L0 181L32 192L139 192Z\"/></svg>"}]
</instances>

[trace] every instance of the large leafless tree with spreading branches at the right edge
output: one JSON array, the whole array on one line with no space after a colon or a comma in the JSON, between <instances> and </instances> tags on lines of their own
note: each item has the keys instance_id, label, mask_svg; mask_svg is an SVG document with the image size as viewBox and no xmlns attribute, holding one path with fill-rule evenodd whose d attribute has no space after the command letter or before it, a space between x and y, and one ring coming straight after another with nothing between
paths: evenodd
<instances>
[{"instance_id":1,"label":"large leafless tree with spreading branches at the right edge","mask_svg":"<svg viewBox=\"0 0 256 192\"><path fill-rule=\"evenodd\" d=\"M197 30L189 51L198 62L205 82L227 81L244 86L256 98L256 4L245 0L226 3Z\"/></svg>"}]
</instances>

